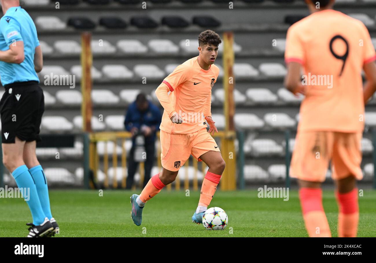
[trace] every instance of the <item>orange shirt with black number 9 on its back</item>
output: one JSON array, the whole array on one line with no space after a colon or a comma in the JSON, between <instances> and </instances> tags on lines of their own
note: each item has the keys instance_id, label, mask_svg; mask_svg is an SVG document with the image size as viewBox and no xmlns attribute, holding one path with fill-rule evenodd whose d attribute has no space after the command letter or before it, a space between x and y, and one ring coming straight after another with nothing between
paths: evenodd
<instances>
[{"instance_id":1,"label":"orange shirt with black number 9 on its back","mask_svg":"<svg viewBox=\"0 0 376 263\"><path fill-rule=\"evenodd\" d=\"M334 10L315 12L290 27L285 58L304 68L299 129L363 129L361 72L374 48L361 21Z\"/></svg>"}]
</instances>

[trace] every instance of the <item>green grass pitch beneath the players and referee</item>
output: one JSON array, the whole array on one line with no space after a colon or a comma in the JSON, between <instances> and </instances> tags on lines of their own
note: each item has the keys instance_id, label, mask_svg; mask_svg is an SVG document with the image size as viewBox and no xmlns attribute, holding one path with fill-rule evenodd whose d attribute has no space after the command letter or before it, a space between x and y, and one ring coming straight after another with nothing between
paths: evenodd
<instances>
[{"instance_id":1,"label":"green grass pitch beneath the players and referee","mask_svg":"<svg viewBox=\"0 0 376 263\"><path fill-rule=\"evenodd\" d=\"M162 190L148 201L141 226L130 218L130 195L139 191L52 190L53 216L58 237L306 237L297 191L290 200L258 198L256 190L217 191L210 206L223 208L229 224L223 231L209 231L192 223L199 191ZM359 197L358 236L376 236L376 191ZM332 236L337 236L337 203L334 192L324 190L324 209ZM27 204L20 198L0 198L0 237L26 237L31 221Z\"/></svg>"}]
</instances>

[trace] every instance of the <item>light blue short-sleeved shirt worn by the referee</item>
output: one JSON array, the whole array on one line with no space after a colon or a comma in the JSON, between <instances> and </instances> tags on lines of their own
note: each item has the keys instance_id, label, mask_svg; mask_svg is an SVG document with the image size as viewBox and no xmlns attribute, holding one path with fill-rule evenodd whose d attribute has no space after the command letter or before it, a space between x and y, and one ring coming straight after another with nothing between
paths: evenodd
<instances>
[{"instance_id":1,"label":"light blue short-sleeved shirt worn by the referee","mask_svg":"<svg viewBox=\"0 0 376 263\"><path fill-rule=\"evenodd\" d=\"M23 41L25 60L21 64L0 61L0 77L6 84L35 80L39 83L34 69L35 48L39 46L35 24L25 9L14 6L0 19L0 50L6 51L10 45Z\"/></svg>"}]
</instances>

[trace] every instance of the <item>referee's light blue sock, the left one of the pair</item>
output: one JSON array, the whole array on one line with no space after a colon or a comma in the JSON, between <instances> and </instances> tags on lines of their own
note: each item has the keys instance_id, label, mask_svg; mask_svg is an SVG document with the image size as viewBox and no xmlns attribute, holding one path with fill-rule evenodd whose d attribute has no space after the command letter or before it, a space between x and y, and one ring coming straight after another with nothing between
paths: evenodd
<instances>
[{"instance_id":1,"label":"referee's light blue sock, the left one of the pair","mask_svg":"<svg viewBox=\"0 0 376 263\"><path fill-rule=\"evenodd\" d=\"M29 196L25 199L27 205L30 208L31 215L33 216L33 224L34 225L40 225L44 222L44 212L41 206L41 203L39 201L38 192L36 191L35 182L33 180L33 177L31 176L29 170L27 169L26 165L21 165L17 167L13 173L12 176L14 177L18 188L29 188Z\"/></svg>"}]
</instances>

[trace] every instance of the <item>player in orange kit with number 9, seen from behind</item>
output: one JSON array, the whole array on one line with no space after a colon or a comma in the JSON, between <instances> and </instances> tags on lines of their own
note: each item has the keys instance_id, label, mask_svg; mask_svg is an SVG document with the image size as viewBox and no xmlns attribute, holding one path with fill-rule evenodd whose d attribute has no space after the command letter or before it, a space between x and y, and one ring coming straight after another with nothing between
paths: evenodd
<instances>
[{"instance_id":1,"label":"player in orange kit with number 9, seen from behind","mask_svg":"<svg viewBox=\"0 0 376 263\"><path fill-rule=\"evenodd\" d=\"M298 179L310 237L331 237L321 182L332 164L339 214L338 236L355 237L364 104L376 90L376 56L364 24L332 9L334 0L305 0L311 12L287 32L285 86L304 94L290 176ZM319 5L317 5L319 2ZM304 75L317 82L304 85ZM367 83L362 87L362 69ZM307 80L307 79L306 79ZM320 81L318 81L320 80Z\"/></svg>"}]
</instances>

